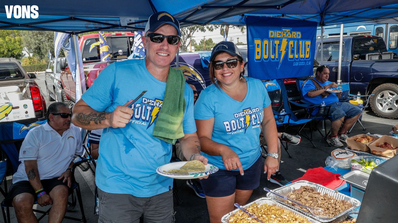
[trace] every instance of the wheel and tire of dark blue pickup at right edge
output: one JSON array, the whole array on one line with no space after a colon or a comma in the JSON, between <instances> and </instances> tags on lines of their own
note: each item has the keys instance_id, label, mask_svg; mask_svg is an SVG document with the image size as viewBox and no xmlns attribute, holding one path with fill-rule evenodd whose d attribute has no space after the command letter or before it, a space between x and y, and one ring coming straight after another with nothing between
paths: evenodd
<instances>
[{"instance_id":1,"label":"wheel and tire of dark blue pickup at right edge","mask_svg":"<svg viewBox=\"0 0 398 223\"><path fill-rule=\"evenodd\" d=\"M386 83L373 90L370 104L378 117L387 119L398 118L398 85Z\"/></svg>"}]
</instances>

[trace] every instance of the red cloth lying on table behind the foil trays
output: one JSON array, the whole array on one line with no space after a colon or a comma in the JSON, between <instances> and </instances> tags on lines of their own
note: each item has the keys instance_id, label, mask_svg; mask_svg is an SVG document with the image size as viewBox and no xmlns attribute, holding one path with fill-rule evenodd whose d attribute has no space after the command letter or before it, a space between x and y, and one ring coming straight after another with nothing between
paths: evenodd
<instances>
[{"instance_id":1,"label":"red cloth lying on table behind the foil trays","mask_svg":"<svg viewBox=\"0 0 398 223\"><path fill-rule=\"evenodd\" d=\"M317 167L314 169L308 169L302 177L295 179L292 183L296 181L310 181L334 190L345 184L345 181L340 179L339 176L340 174L327 171L323 167Z\"/></svg>"}]
</instances>

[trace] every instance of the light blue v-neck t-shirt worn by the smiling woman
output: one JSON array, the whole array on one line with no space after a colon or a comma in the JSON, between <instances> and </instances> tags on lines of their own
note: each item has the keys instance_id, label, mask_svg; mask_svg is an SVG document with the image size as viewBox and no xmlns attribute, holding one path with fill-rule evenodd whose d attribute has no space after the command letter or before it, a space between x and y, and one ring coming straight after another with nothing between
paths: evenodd
<instances>
[{"instance_id":1,"label":"light blue v-neck t-shirt worn by the smiling woman","mask_svg":"<svg viewBox=\"0 0 398 223\"><path fill-rule=\"evenodd\" d=\"M271 104L267 90L258 79L246 78L248 90L242 102L232 99L215 84L202 90L195 103L195 119L214 117L211 139L229 146L238 154L243 169L248 169L261 154L259 135L263 110ZM202 152L220 169L225 169L221 156Z\"/></svg>"}]
</instances>

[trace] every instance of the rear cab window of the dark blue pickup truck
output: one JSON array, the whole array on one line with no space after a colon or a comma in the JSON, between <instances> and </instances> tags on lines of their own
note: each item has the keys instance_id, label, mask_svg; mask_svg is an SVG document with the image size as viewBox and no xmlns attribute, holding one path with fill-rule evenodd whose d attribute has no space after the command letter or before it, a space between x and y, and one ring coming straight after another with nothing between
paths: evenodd
<instances>
[{"instance_id":1,"label":"rear cab window of the dark blue pickup truck","mask_svg":"<svg viewBox=\"0 0 398 223\"><path fill-rule=\"evenodd\" d=\"M353 55L366 60L366 54L386 52L386 44L381 38L357 38L354 41Z\"/></svg>"}]
</instances>

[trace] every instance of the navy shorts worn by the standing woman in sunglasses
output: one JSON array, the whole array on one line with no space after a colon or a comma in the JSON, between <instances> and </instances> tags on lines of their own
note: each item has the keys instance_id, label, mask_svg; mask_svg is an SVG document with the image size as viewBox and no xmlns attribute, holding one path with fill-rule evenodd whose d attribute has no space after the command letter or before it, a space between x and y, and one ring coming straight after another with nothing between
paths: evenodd
<instances>
[{"instance_id":1,"label":"navy shorts worn by the standing woman in sunglasses","mask_svg":"<svg viewBox=\"0 0 398 223\"><path fill-rule=\"evenodd\" d=\"M239 171L219 169L209 175L207 179L200 180L205 195L209 197L226 197L238 190L254 190L260 186L261 156L241 176Z\"/></svg>"}]
</instances>

